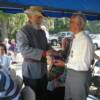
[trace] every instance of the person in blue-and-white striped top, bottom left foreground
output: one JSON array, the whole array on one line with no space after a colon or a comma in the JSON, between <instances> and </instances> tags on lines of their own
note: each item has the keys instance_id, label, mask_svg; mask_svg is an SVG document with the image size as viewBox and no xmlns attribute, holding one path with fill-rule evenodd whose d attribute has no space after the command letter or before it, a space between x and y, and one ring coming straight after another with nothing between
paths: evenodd
<instances>
[{"instance_id":1,"label":"person in blue-and-white striped top, bottom left foreground","mask_svg":"<svg viewBox=\"0 0 100 100\"><path fill-rule=\"evenodd\" d=\"M21 89L17 88L8 71L0 65L0 100L21 100Z\"/></svg>"}]
</instances>

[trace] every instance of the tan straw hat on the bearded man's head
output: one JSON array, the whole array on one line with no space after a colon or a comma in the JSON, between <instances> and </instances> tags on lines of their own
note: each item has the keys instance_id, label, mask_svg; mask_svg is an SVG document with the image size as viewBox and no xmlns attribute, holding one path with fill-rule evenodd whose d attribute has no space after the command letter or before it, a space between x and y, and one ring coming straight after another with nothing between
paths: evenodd
<instances>
[{"instance_id":1,"label":"tan straw hat on the bearded man's head","mask_svg":"<svg viewBox=\"0 0 100 100\"><path fill-rule=\"evenodd\" d=\"M27 15L39 15L43 16L42 14L43 8L40 6L32 6L29 9L25 10L24 13Z\"/></svg>"}]
</instances>

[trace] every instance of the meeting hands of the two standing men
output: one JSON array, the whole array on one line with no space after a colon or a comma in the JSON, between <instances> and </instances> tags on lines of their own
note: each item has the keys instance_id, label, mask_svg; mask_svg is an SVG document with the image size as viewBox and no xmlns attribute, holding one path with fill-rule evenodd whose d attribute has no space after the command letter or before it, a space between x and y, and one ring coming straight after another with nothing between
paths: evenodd
<instances>
[{"instance_id":1,"label":"meeting hands of the two standing men","mask_svg":"<svg viewBox=\"0 0 100 100\"><path fill-rule=\"evenodd\" d=\"M65 62L62 60L61 55L59 55L58 51L48 50L47 51L47 63L59 67L64 67Z\"/></svg>"}]
</instances>

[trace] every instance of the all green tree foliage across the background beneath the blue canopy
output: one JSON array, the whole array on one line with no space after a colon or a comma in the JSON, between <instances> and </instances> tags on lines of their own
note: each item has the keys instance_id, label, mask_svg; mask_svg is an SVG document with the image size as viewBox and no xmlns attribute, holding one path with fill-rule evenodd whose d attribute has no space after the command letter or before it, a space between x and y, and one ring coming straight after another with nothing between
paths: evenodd
<instances>
[{"instance_id":1,"label":"all green tree foliage across the background beneath the blue canopy","mask_svg":"<svg viewBox=\"0 0 100 100\"><path fill-rule=\"evenodd\" d=\"M5 14L0 12L0 39L15 38L17 31L25 25L25 14ZM45 18L44 21L50 34L69 30L69 18ZM100 21L87 21L86 29L92 33L100 33Z\"/></svg>"}]
</instances>

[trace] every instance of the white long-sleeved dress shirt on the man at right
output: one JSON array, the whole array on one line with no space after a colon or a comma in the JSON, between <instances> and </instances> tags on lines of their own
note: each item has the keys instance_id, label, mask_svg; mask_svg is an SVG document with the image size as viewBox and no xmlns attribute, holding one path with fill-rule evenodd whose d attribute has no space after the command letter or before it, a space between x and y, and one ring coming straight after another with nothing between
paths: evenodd
<instances>
[{"instance_id":1,"label":"white long-sleeved dress shirt on the man at right","mask_svg":"<svg viewBox=\"0 0 100 100\"><path fill-rule=\"evenodd\" d=\"M89 36L81 31L73 39L67 68L76 71L88 71L93 58L93 43Z\"/></svg>"}]
</instances>

